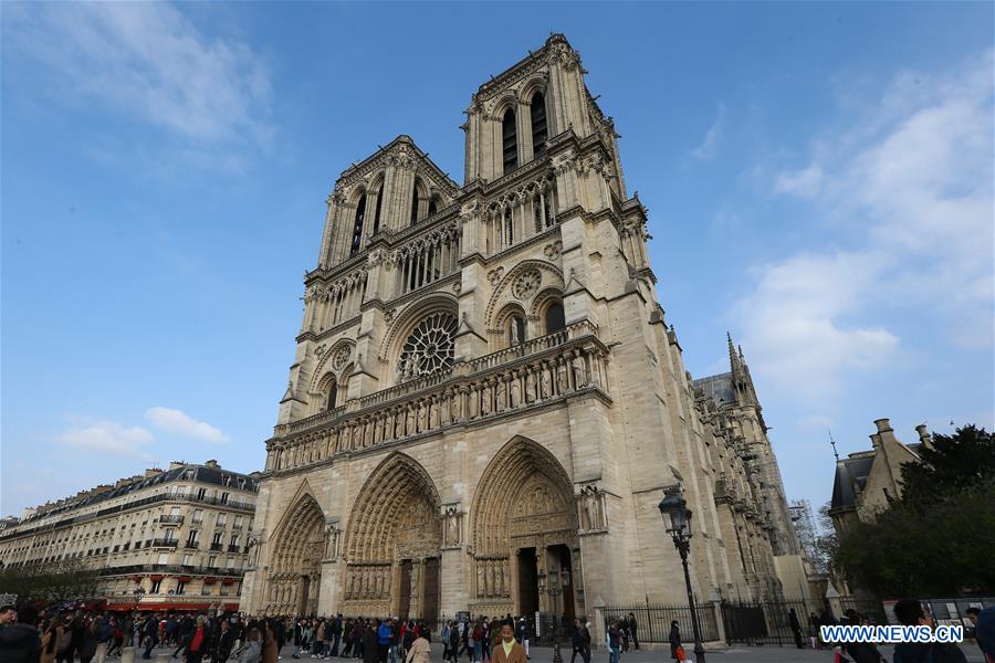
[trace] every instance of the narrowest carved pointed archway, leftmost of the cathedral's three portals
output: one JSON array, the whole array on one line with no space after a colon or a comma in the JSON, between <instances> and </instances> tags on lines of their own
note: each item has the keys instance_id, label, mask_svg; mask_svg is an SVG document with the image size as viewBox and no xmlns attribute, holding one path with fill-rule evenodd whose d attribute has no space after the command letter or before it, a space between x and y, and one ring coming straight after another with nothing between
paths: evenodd
<instances>
[{"instance_id":1,"label":"narrowest carved pointed archway, leftmost of the cathedral's three portals","mask_svg":"<svg viewBox=\"0 0 995 663\"><path fill-rule=\"evenodd\" d=\"M325 556L325 516L306 484L270 539L273 552L266 577L269 614L317 611L321 561Z\"/></svg>"}]
</instances>

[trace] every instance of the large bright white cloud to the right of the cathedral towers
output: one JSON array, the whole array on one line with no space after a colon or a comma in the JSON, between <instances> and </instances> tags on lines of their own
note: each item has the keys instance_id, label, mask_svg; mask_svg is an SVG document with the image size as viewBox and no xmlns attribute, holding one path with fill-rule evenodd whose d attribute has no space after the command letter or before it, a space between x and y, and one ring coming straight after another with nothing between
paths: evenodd
<instances>
[{"instance_id":1,"label":"large bright white cloud to the right of the cathedral towers","mask_svg":"<svg viewBox=\"0 0 995 663\"><path fill-rule=\"evenodd\" d=\"M952 343L991 346L992 69L987 52L945 76L899 75L852 128L814 144L810 166L774 178L850 248L761 265L735 304L769 385L810 400L837 393L893 359L897 311L951 320Z\"/></svg>"}]
</instances>

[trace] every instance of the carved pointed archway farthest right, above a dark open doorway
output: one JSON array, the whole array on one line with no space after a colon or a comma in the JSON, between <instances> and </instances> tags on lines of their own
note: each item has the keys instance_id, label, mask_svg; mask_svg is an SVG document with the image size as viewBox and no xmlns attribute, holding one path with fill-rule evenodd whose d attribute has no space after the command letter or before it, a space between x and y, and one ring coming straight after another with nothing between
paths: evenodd
<instances>
[{"instance_id":1,"label":"carved pointed archway farthest right, above a dark open doorway","mask_svg":"<svg viewBox=\"0 0 995 663\"><path fill-rule=\"evenodd\" d=\"M536 606L525 604L523 592L535 594L535 573L554 566L572 568L574 586L580 582L576 501L566 470L548 450L519 436L491 459L478 486L471 611L522 614L538 603L549 610L538 597ZM523 554L531 556L531 571L522 566ZM573 588L563 594L564 613L574 612L575 600Z\"/></svg>"}]
</instances>

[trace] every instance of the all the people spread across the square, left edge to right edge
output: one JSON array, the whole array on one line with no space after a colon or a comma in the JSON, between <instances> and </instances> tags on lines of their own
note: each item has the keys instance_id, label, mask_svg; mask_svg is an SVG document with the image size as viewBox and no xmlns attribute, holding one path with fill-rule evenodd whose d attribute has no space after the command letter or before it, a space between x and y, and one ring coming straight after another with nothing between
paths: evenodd
<instances>
[{"instance_id":1,"label":"all the people spread across the square, left edge to right edge","mask_svg":"<svg viewBox=\"0 0 995 663\"><path fill-rule=\"evenodd\" d=\"M899 623L933 627L932 617L913 599L894 606ZM995 607L970 609L976 639L988 663L995 663ZM834 649L837 660L881 663L881 652L870 643L830 643L819 636L819 627L868 623L848 610L837 622L828 611L808 617L807 631L813 649ZM115 614L83 610L39 612L30 604L15 609L0 607L0 663L107 663L135 648L135 657L150 660L166 649L172 659L186 663L277 663L284 648L292 659L359 659L363 663L429 663L431 642L438 638L444 663L525 663L534 638L532 620L522 617L478 617L443 620L438 634L431 624L397 618L366 619L243 617L239 614L153 613ZM794 610L789 625L798 649L805 649L803 624ZM591 633L584 619L574 620L568 640L570 663L590 663ZM687 660L677 621L670 627L670 657ZM630 649L639 649L633 614L610 619L605 645L609 663L619 663ZM893 663L963 663L963 652L951 643L902 643L894 646Z\"/></svg>"}]
</instances>

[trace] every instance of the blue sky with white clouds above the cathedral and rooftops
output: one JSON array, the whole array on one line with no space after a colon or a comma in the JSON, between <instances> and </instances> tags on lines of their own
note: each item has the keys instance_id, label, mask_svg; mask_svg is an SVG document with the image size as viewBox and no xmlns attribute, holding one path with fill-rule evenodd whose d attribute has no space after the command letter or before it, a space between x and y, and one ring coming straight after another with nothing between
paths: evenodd
<instances>
[{"instance_id":1,"label":"blue sky with white clouds above the cathedral and rooftops","mask_svg":"<svg viewBox=\"0 0 995 663\"><path fill-rule=\"evenodd\" d=\"M991 3L0 10L4 514L261 466L335 178L404 133L460 181L471 93L551 31L689 370L742 344L790 498L829 498L830 427L992 428Z\"/></svg>"}]
</instances>

